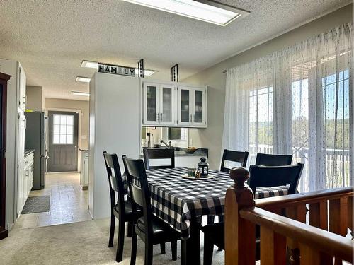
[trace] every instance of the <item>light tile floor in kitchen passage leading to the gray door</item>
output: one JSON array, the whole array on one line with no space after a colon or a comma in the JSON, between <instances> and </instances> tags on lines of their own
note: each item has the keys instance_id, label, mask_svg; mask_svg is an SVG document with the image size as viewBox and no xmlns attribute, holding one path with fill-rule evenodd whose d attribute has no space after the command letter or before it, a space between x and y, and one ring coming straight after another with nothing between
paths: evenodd
<instances>
[{"instance_id":1,"label":"light tile floor in kitchen passage leading to the gray door","mask_svg":"<svg viewBox=\"0 0 354 265\"><path fill-rule=\"evenodd\" d=\"M79 173L48 173L45 189L32 191L30 196L50 195L50 211L22 214L13 229L91 220L88 191L80 186Z\"/></svg>"}]
</instances>

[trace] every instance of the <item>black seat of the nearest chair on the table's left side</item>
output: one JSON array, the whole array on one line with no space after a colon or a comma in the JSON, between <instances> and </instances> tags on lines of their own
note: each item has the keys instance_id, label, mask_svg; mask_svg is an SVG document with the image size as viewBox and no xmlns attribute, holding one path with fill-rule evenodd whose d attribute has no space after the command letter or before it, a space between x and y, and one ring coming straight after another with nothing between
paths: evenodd
<instances>
[{"instance_id":1,"label":"black seat of the nearest chair on the table's left side","mask_svg":"<svg viewBox=\"0 0 354 265\"><path fill-rule=\"evenodd\" d=\"M145 233L144 218L137 219L136 227L138 230L136 232ZM173 228L170 228L169 225L164 223L157 218L152 218L152 237L154 242L161 242L161 240L166 242L170 242L171 240L179 240L181 239L181 234L178 233Z\"/></svg>"}]
</instances>

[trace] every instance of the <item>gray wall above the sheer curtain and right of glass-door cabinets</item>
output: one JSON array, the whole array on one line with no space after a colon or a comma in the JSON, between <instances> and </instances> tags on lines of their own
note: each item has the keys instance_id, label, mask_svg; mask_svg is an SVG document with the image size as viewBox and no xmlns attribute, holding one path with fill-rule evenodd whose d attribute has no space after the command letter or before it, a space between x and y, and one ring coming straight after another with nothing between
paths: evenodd
<instances>
[{"instance_id":1,"label":"gray wall above the sheer curtain and right of glass-door cabinets","mask_svg":"<svg viewBox=\"0 0 354 265\"><path fill-rule=\"evenodd\" d=\"M209 163L211 168L219 168L222 145L222 131L224 126L224 101L226 75L223 69L244 64L258 57L294 45L309 37L319 35L337 25L353 21L353 4L338 9L326 16L313 20L295 30L275 37L261 45L253 47L226 59L200 73L183 80L186 83L207 85L207 129L190 129L193 146L210 148Z\"/></svg>"}]
</instances>

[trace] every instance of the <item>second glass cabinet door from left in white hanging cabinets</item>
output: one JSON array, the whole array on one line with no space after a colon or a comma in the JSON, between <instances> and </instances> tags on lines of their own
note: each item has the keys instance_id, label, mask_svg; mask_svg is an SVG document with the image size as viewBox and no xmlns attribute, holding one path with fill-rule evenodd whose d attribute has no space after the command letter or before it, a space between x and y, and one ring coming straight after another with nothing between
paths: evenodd
<instances>
[{"instance_id":1,"label":"second glass cabinet door from left in white hanging cabinets","mask_svg":"<svg viewBox=\"0 0 354 265\"><path fill-rule=\"evenodd\" d=\"M173 88L173 86L161 85L160 90L161 90L160 124L174 124L175 117L173 115L173 110L175 107L174 100L176 99L175 88Z\"/></svg>"}]
</instances>

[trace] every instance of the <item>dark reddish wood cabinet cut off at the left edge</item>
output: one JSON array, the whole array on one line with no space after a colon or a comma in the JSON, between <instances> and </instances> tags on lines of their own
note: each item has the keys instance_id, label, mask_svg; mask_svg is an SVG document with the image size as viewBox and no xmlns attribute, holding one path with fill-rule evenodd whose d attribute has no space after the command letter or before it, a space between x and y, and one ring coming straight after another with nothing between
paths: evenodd
<instances>
[{"instance_id":1,"label":"dark reddish wood cabinet cut off at the left edge","mask_svg":"<svg viewBox=\"0 0 354 265\"><path fill-rule=\"evenodd\" d=\"M6 105L7 81L11 76L0 73L0 240L7 237L6 215Z\"/></svg>"}]
</instances>

